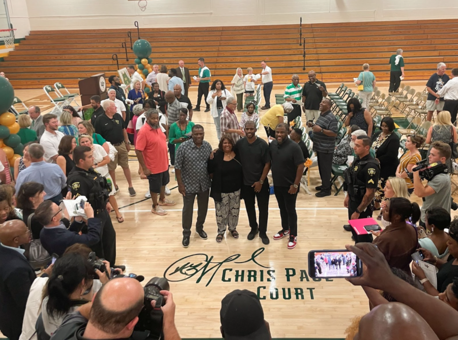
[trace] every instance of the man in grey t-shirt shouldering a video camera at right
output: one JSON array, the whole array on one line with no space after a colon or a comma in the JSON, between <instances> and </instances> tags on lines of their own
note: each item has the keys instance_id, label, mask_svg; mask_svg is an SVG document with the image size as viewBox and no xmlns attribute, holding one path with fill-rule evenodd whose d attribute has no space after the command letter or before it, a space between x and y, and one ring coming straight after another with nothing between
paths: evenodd
<instances>
[{"instance_id":1,"label":"man in grey t-shirt shouldering a video camera at right","mask_svg":"<svg viewBox=\"0 0 458 340\"><path fill-rule=\"evenodd\" d=\"M451 148L450 145L436 141L431 144L430 157L428 158L430 165L434 163L446 164L450 158ZM415 168L412 169L412 171ZM434 206L444 208L450 213L451 206L451 186L450 175L444 171L443 173L436 174L433 178L428 180L426 186L423 186L420 178L419 171L413 171L414 193L423 199L421 206L421 220L420 225L425 227L424 214L426 209Z\"/></svg>"}]
</instances>

